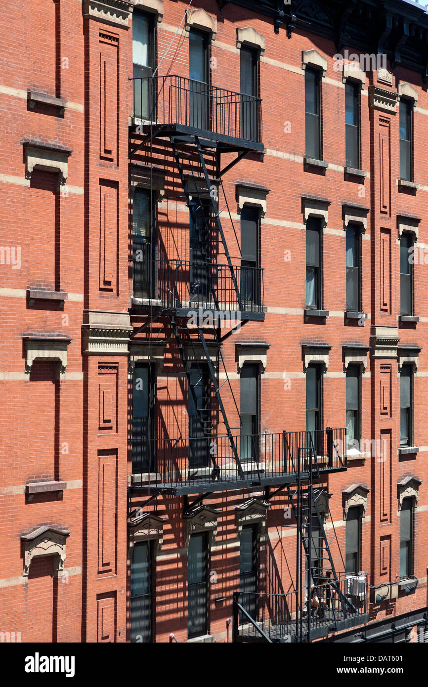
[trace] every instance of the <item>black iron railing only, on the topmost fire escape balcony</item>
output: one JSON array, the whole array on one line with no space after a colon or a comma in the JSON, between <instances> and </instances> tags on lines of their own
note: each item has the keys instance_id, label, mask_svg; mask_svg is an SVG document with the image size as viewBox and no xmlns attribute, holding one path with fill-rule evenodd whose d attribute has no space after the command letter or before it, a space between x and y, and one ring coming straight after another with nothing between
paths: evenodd
<instances>
[{"instance_id":1,"label":"black iron railing only, on the topmost fire escape balcony","mask_svg":"<svg viewBox=\"0 0 428 687\"><path fill-rule=\"evenodd\" d=\"M133 116L141 122L181 124L262 142L262 101L170 74L133 78Z\"/></svg>"}]
</instances>

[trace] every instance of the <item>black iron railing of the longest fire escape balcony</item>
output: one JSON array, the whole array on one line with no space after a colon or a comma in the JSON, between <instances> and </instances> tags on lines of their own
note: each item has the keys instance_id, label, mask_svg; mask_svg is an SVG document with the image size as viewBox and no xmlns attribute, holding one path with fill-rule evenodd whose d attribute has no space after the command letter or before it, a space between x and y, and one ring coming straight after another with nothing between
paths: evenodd
<instances>
[{"instance_id":1,"label":"black iron railing of the longest fire escape balcony","mask_svg":"<svg viewBox=\"0 0 428 687\"><path fill-rule=\"evenodd\" d=\"M328 473L346 467L346 430L326 429L315 433L322 453L315 455L311 432L278 432L234 436L243 475L226 435L178 439L154 439L147 433L132 439L133 483L179 488L186 484L207 485L248 480L267 482L275 478Z\"/></svg>"}]
</instances>

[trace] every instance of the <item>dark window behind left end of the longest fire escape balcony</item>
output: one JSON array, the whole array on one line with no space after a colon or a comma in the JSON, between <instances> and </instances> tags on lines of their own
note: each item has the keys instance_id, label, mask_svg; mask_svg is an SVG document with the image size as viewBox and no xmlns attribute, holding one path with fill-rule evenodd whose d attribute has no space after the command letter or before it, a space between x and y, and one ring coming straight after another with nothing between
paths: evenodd
<instances>
[{"instance_id":1,"label":"dark window behind left end of the longest fire escape balcony","mask_svg":"<svg viewBox=\"0 0 428 687\"><path fill-rule=\"evenodd\" d=\"M151 365L133 372L133 473L154 469L155 379Z\"/></svg>"}]
</instances>

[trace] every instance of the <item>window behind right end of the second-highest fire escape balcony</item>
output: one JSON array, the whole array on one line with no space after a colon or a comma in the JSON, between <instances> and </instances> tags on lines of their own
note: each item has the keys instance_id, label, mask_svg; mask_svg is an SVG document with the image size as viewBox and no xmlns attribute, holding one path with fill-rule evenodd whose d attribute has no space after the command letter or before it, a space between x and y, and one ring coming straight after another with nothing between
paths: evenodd
<instances>
[{"instance_id":1,"label":"window behind right end of the second-highest fire escape balcony","mask_svg":"<svg viewBox=\"0 0 428 687\"><path fill-rule=\"evenodd\" d=\"M243 207L240 214L240 298L245 310L260 303L259 222L258 210Z\"/></svg>"}]
</instances>

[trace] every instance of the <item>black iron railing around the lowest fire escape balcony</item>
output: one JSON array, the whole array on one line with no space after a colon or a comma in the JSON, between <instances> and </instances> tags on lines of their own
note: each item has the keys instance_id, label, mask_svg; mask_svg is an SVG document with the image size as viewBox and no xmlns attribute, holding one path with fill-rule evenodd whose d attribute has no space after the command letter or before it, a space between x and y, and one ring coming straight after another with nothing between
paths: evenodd
<instances>
[{"instance_id":1,"label":"black iron railing around the lowest fire escape balcony","mask_svg":"<svg viewBox=\"0 0 428 687\"><path fill-rule=\"evenodd\" d=\"M359 616L367 613L368 575L341 572L335 579L327 580L327 576L323 579L323 583L311 587L309 604L305 589L299 605L295 591L286 594L234 592L234 641L261 640L261 630L273 642L295 642L306 640L311 631L319 637L331 629L358 624Z\"/></svg>"}]
</instances>

